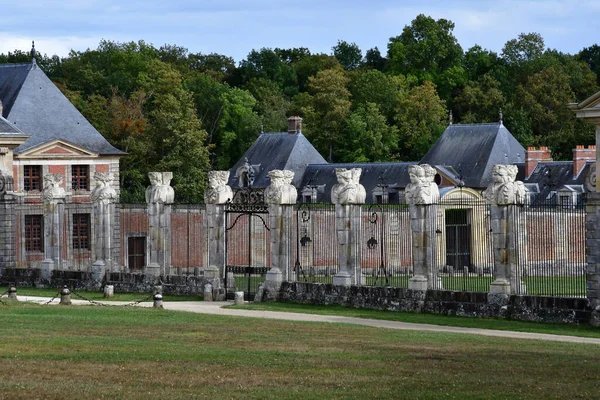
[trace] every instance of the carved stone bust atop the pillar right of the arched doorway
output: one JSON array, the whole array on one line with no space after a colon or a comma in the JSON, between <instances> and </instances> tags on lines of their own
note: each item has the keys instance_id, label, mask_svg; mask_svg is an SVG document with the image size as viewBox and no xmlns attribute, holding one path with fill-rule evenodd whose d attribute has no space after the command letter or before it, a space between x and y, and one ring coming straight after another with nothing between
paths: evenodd
<instances>
[{"instance_id":1,"label":"carved stone bust atop the pillar right of the arched doorway","mask_svg":"<svg viewBox=\"0 0 600 400\"><path fill-rule=\"evenodd\" d=\"M516 165L496 164L492 169L492 183L483 191L483 197L499 206L525 204L527 190L517 178Z\"/></svg>"}]
</instances>

